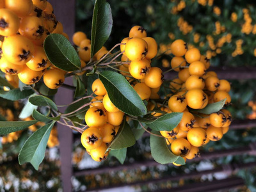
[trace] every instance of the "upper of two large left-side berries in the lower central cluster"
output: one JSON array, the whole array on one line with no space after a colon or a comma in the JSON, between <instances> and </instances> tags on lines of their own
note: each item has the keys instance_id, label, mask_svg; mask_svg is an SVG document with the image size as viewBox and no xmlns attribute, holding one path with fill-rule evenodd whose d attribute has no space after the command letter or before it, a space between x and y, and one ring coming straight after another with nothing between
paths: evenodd
<instances>
[{"instance_id":1,"label":"upper of two large left-side berries in the lower central cluster","mask_svg":"<svg viewBox=\"0 0 256 192\"><path fill-rule=\"evenodd\" d=\"M89 127L100 127L107 122L106 110L99 107L92 107L86 111L85 122Z\"/></svg>"}]
</instances>

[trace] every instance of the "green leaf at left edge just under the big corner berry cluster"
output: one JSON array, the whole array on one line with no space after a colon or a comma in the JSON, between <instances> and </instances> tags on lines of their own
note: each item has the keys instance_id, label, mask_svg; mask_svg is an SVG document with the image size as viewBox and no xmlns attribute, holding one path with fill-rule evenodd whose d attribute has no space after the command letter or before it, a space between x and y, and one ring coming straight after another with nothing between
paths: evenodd
<instances>
[{"instance_id":1,"label":"green leaf at left edge just under the big corner berry cluster","mask_svg":"<svg viewBox=\"0 0 256 192\"><path fill-rule=\"evenodd\" d=\"M25 99L26 97L28 97L29 95L32 95L33 93L35 93L33 90L20 91L19 88L15 88L8 92L5 92L4 90L0 90L0 97L3 97L4 99L8 99L8 100L19 100L19 99Z\"/></svg>"}]
</instances>

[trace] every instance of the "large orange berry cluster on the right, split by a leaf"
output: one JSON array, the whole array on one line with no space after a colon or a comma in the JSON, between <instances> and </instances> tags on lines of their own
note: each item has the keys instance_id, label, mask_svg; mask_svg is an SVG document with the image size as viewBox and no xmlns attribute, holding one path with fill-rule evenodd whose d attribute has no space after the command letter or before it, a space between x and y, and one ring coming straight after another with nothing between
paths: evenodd
<instances>
[{"instance_id":1,"label":"large orange berry cluster on the right, split by a leaf","mask_svg":"<svg viewBox=\"0 0 256 192\"><path fill-rule=\"evenodd\" d=\"M228 131L232 115L227 109L210 115L196 113L193 109L203 109L223 99L226 105L230 104L230 83L218 79L213 71L206 72L209 60L198 49L188 49L183 40L175 40L171 51L174 55L171 66L179 72L179 78L170 82L172 94L168 95L168 108L172 112L182 112L183 116L173 131L161 131L161 134L173 154L186 161L198 156L198 147L220 140Z\"/></svg>"}]
</instances>

